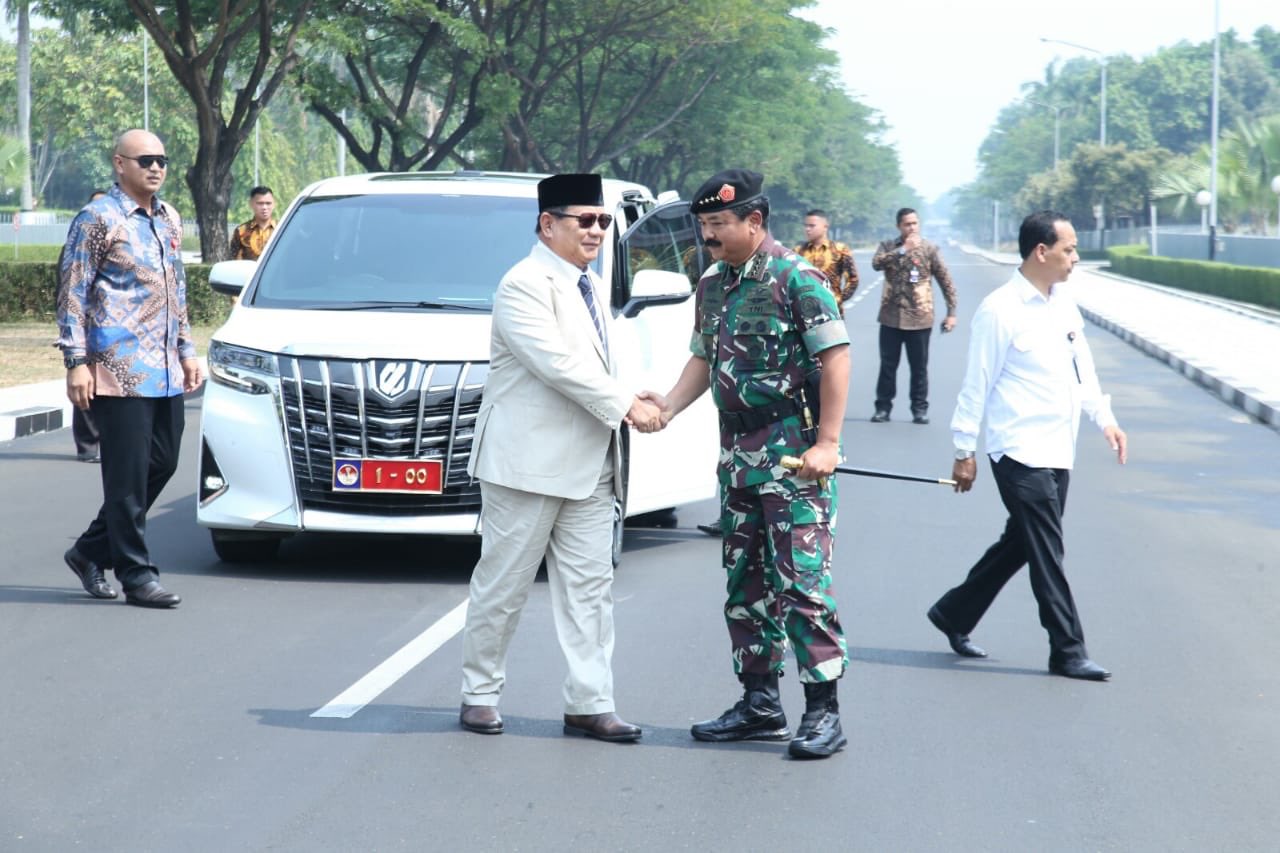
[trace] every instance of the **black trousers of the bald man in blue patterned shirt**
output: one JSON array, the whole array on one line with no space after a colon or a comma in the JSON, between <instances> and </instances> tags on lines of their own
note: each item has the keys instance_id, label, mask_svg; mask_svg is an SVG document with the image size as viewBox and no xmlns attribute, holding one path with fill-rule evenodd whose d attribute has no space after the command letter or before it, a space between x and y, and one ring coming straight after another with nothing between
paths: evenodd
<instances>
[{"instance_id":1,"label":"black trousers of the bald man in blue patterned shirt","mask_svg":"<svg viewBox=\"0 0 1280 853\"><path fill-rule=\"evenodd\" d=\"M95 397L90 409L101 437L102 508L76 549L133 589L160 576L147 552L147 510L178 467L183 400Z\"/></svg>"}]
</instances>

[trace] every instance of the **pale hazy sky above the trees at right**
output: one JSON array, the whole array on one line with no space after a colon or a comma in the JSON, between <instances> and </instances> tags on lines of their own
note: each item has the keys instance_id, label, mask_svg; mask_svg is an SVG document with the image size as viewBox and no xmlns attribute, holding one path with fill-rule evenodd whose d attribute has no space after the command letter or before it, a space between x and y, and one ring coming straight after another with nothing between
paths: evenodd
<instances>
[{"instance_id":1,"label":"pale hazy sky above the trees at right","mask_svg":"<svg viewBox=\"0 0 1280 853\"><path fill-rule=\"evenodd\" d=\"M1219 3L1224 31L1280 29L1280 0ZM883 115L906 183L927 201L977 177L978 146L1023 83L1055 59L1096 56L1041 37L1139 58L1213 37L1213 0L818 0L804 14L835 31L827 46L845 86Z\"/></svg>"}]
</instances>

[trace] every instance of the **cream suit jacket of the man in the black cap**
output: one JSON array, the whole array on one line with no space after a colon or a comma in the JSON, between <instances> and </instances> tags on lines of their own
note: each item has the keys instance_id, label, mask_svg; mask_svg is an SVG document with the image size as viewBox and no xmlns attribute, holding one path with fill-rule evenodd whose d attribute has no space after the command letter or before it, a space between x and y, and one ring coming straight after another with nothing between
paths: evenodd
<instances>
[{"instance_id":1,"label":"cream suit jacket of the man in the black cap","mask_svg":"<svg viewBox=\"0 0 1280 853\"><path fill-rule=\"evenodd\" d=\"M573 501L599 483L635 393L605 359L577 289L581 274L539 241L498 284L489 377L467 462L472 478ZM588 275L608 327L608 298L595 273ZM617 492L618 442L613 457Z\"/></svg>"}]
</instances>

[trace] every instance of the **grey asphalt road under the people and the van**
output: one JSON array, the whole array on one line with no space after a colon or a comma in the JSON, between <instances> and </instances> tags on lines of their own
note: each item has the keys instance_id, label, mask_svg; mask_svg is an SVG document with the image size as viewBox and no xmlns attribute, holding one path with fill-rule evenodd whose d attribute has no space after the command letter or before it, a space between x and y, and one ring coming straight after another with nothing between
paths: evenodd
<instances>
[{"instance_id":1,"label":"grey asphalt road under the people and the van","mask_svg":"<svg viewBox=\"0 0 1280 853\"><path fill-rule=\"evenodd\" d=\"M933 423L870 424L878 278L847 314L851 464L946 476L968 319L1007 269L948 252L960 328L933 337ZM474 547L300 537L218 562L193 521L198 401L150 520L172 612L88 598L61 552L99 501L67 430L0 444L0 850L1271 850L1280 835L1280 435L1089 330L1129 432L1092 425L1068 573L1108 684L1047 675L1024 575L961 661L924 611L1004 521L975 491L842 479L836 589L849 748L700 744L739 693L717 543L632 529L616 583L618 707L636 745L561 734L545 583L525 611L507 734L457 726L447 639L349 717L314 717L466 599ZM906 365L900 375L905 394ZM803 710L788 675L783 701Z\"/></svg>"}]
</instances>

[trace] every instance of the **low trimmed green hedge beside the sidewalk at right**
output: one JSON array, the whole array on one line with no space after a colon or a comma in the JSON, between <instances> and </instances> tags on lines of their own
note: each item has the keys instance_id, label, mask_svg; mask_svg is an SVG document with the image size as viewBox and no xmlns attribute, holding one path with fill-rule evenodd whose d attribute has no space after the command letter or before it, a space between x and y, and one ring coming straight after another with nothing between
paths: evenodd
<instances>
[{"instance_id":1,"label":"low trimmed green hedge beside the sidewalk at right","mask_svg":"<svg viewBox=\"0 0 1280 853\"><path fill-rule=\"evenodd\" d=\"M1108 248L1107 257L1120 275L1280 309L1280 269L1152 257L1146 246Z\"/></svg>"}]
</instances>

